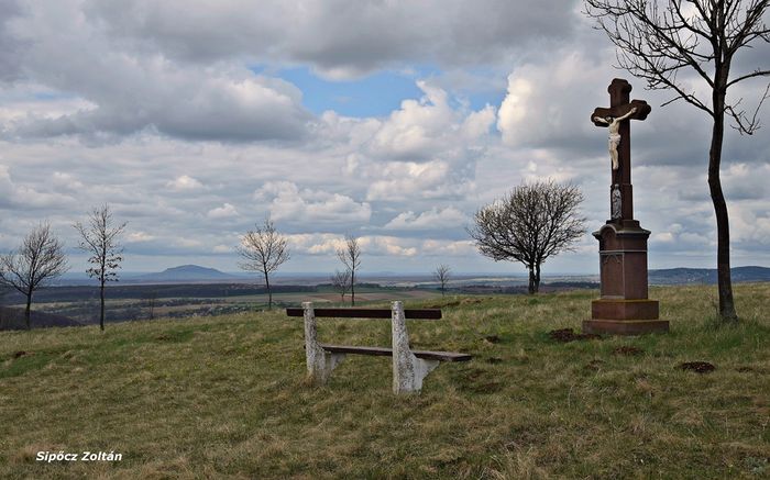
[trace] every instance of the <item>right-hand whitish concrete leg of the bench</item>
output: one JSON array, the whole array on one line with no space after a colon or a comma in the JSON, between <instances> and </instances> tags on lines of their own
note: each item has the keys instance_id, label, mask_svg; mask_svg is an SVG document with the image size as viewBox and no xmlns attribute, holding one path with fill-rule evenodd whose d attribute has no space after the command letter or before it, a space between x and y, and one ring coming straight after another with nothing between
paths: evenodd
<instances>
[{"instance_id":1,"label":"right-hand whitish concrete leg of the bench","mask_svg":"<svg viewBox=\"0 0 770 480\"><path fill-rule=\"evenodd\" d=\"M424 360L409 349L404 305L392 303L391 328L393 332L393 392L396 394L419 392L422 380L439 366L439 360Z\"/></svg>"}]
</instances>

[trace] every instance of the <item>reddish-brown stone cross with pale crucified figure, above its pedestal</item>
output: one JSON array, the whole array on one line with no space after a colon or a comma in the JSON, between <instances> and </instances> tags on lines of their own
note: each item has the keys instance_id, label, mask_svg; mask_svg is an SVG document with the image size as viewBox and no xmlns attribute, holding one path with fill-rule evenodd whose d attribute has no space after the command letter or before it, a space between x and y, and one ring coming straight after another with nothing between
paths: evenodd
<instances>
[{"instance_id":1,"label":"reddish-brown stone cross with pale crucified figure, above its pedestal","mask_svg":"<svg viewBox=\"0 0 770 480\"><path fill-rule=\"evenodd\" d=\"M631 127L629 120L645 120L652 108L644 100L629 101L631 86L622 78L613 79L607 88L609 108L597 108L591 114L591 121L596 126L610 126L609 148L617 152L617 166L612 169L609 187L612 220L622 223L634 220L634 203L631 192ZM617 136L613 137L614 120L620 120ZM616 191L619 191L619 200ZM619 208L618 208L619 206Z\"/></svg>"}]
</instances>

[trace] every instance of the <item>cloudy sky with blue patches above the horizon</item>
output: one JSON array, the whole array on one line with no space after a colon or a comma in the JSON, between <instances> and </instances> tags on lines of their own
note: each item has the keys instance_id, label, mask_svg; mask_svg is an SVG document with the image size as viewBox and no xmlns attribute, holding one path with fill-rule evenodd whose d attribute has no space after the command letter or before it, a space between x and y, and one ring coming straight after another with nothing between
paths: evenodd
<instances>
[{"instance_id":1,"label":"cloudy sky with blue patches above the horizon","mask_svg":"<svg viewBox=\"0 0 770 480\"><path fill-rule=\"evenodd\" d=\"M635 216L650 268L716 266L711 126L613 67L566 0L0 0L0 252L40 222L85 271L73 223L108 203L123 270L238 271L271 217L284 272L524 274L482 257L474 213L514 187L580 187L587 233L543 275L597 274L609 216L606 130L590 121L626 78L652 112L631 125ZM770 66L770 44L736 74ZM747 70L748 69L748 70ZM694 91L695 78L682 77ZM752 105L767 79L734 88ZM770 124L770 107L760 111ZM770 135L727 129L722 179L734 266L770 266Z\"/></svg>"}]
</instances>

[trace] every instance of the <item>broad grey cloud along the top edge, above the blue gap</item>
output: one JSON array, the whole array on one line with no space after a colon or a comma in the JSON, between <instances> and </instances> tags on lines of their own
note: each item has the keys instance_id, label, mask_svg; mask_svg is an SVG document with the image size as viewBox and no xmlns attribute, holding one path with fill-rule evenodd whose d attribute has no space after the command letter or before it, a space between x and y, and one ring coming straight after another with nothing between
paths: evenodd
<instances>
[{"instance_id":1,"label":"broad grey cloud along the top edge, above the blue gap","mask_svg":"<svg viewBox=\"0 0 770 480\"><path fill-rule=\"evenodd\" d=\"M329 78L402 66L505 62L573 29L563 0L87 2L86 19L136 49L186 63L233 57L307 63ZM286 27L290 25L290 27Z\"/></svg>"}]
</instances>

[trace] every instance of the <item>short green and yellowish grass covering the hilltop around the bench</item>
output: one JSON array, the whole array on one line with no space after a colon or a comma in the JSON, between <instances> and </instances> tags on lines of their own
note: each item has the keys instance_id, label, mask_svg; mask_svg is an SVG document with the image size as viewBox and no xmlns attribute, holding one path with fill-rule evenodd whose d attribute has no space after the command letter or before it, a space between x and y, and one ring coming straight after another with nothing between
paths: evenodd
<instances>
[{"instance_id":1,"label":"short green and yellowish grass covering the hilltop around the bench","mask_svg":"<svg viewBox=\"0 0 770 480\"><path fill-rule=\"evenodd\" d=\"M389 358L350 356L308 384L301 319L280 311L2 333L0 478L770 476L770 284L736 288L737 327L715 326L713 288L666 288L651 298L667 335L551 341L595 294L407 303L444 311L408 322L415 348L475 358L403 398ZM389 344L387 321L319 325L322 341ZM716 370L676 368L693 360ZM123 459L35 461L85 449Z\"/></svg>"}]
</instances>

